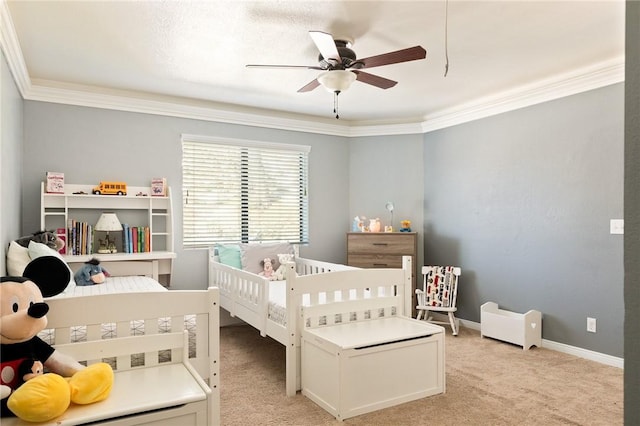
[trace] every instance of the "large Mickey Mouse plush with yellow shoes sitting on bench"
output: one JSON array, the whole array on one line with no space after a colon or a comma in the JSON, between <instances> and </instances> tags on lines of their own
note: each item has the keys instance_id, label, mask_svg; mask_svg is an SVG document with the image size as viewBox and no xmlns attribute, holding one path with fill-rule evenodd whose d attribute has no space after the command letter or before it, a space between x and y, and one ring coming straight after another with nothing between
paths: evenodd
<instances>
[{"instance_id":1,"label":"large Mickey Mouse plush with yellow shoes sitting on bench","mask_svg":"<svg viewBox=\"0 0 640 426\"><path fill-rule=\"evenodd\" d=\"M109 396L108 364L84 367L37 334L46 328L49 306L43 297L69 283L67 265L54 256L32 260L22 277L0 278L0 414L29 422L52 420L71 402L90 404ZM43 366L48 372L43 373Z\"/></svg>"}]
</instances>

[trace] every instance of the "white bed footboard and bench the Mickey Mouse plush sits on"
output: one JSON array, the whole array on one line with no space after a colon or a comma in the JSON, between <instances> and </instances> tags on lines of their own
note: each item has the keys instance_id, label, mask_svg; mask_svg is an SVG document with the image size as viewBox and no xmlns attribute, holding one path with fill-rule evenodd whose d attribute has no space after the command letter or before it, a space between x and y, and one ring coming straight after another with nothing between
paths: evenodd
<instances>
[{"instance_id":1,"label":"white bed footboard and bench the Mickey Mouse plush sits on","mask_svg":"<svg viewBox=\"0 0 640 426\"><path fill-rule=\"evenodd\" d=\"M74 405L48 424L76 425L219 425L219 293L208 290L161 291L79 296L48 300L48 326L56 349L88 364L114 358L114 386L109 397ZM195 336L184 330L185 316L195 317ZM160 332L159 318L171 318L171 331ZM144 321L144 335L131 333L131 321ZM102 338L103 324L115 323L117 337ZM70 330L85 326L87 339L71 342ZM195 351L189 357L189 344ZM159 362L159 351L171 360ZM144 365L132 365L132 355ZM3 426L28 425L3 418ZM94 423L92 423L94 424Z\"/></svg>"}]
</instances>

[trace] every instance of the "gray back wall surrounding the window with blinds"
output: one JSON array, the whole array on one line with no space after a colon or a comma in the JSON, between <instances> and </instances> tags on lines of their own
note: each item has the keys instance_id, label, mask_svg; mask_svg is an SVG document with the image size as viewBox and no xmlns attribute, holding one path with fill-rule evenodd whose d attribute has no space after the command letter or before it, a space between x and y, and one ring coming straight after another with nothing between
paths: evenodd
<instances>
[{"instance_id":1,"label":"gray back wall surrounding the window with blinds","mask_svg":"<svg viewBox=\"0 0 640 426\"><path fill-rule=\"evenodd\" d=\"M181 144L183 133L255 139L311 146L309 164L310 244L303 256L344 261L344 223L348 215L349 152L344 138L260 129L181 118L84 108L44 102L24 103L23 232L40 227L39 190L46 171L65 173L65 182L94 184L121 180L146 186L167 178L173 191L174 247L171 285L207 285L206 250L182 247Z\"/></svg>"}]
</instances>

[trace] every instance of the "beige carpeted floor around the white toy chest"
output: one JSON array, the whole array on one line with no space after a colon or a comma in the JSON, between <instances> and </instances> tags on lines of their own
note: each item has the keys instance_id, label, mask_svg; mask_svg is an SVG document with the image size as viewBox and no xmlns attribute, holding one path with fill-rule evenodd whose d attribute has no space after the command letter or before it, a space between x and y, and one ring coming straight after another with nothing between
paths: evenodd
<instances>
[{"instance_id":1,"label":"beige carpeted floor around the white toy chest","mask_svg":"<svg viewBox=\"0 0 640 426\"><path fill-rule=\"evenodd\" d=\"M544 349L445 339L446 393L350 418L347 425L623 424L623 370ZM223 425L337 425L300 392L285 394L284 346L249 326L220 331ZM416 366L419 368L419 366Z\"/></svg>"}]
</instances>

